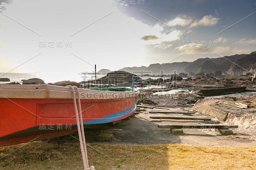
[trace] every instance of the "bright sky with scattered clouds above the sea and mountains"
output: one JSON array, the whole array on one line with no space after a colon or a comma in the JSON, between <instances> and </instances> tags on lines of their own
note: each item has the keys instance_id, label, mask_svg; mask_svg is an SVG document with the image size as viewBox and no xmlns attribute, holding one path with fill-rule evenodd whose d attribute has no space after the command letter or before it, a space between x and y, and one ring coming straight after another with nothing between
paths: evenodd
<instances>
[{"instance_id":1,"label":"bright sky with scattered clouds above the sea and mountains","mask_svg":"<svg viewBox=\"0 0 256 170\"><path fill-rule=\"evenodd\" d=\"M0 72L72 76L92 72L94 64L119 70L256 51L255 0L6 4L0 5Z\"/></svg>"}]
</instances>

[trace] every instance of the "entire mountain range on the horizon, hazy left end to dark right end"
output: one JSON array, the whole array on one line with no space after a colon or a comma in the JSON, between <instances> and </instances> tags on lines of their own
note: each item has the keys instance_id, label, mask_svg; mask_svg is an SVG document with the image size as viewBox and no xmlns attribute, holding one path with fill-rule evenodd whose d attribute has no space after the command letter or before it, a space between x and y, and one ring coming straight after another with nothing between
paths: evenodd
<instances>
[{"instance_id":1,"label":"entire mountain range on the horizon, hazy left end to dark right end","mask_svg":"<svg viewBox=\"0 0 256 170\"><path fill-rule=\"evenodd\" d=\"M175 62L163 64L150 64L148 67L124 67L118 71L127 71L136 75L162 75L162 74L179 74L180 72L193 72L193 73L211 73L216 70L236 71L251 69L254 73L256 68L256 51L251 54L236 54L218 58L199 58L194 62ZM102 69L108 70L108 69ZM101 70L100 70L101 71ZM99 71L99 72L100 72ZM250 72L252 72L250 71ZM102 72L110 72L102 71Z\"/></svg>"}]
</instances>

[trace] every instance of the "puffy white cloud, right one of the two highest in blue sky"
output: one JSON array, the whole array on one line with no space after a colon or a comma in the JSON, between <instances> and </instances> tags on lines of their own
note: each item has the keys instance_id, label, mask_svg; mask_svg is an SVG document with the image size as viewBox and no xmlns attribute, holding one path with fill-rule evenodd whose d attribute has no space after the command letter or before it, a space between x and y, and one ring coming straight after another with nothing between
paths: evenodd
<instances>
[{"instance_id":1,"label":"puffy white cloud, right one of the two highest in blue sky","mask_svg":"<svg viewBox=\"0 0 256 170\"><path fill-rule=\"evenodd\" d=\"M215 26L219 20L220 18L213 18L212 15L206 15L202 19L193 22L190 28L197 26Z\"/></svg>"}]
</instances>

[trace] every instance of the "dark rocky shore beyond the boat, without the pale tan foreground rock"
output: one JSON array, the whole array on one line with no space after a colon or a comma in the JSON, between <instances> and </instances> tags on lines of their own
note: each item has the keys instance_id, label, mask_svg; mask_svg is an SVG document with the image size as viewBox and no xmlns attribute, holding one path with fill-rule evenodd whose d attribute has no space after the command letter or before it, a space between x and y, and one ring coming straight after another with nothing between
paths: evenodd
<instances>
[{"instance_id":1,"label":"dark rocky shore beyond the boat, without the pale tan foreground rock","mask_svg":"<svg viewBox=\"0 0 256 170\"><path fill-rule=\"evenodd\" d=\"M250 76L227 76L225 78L213 78L207 75L183 79L180 76L172 75L171 78L142 79L139 76L126 71L112 71L106 76L96 80L97 88L104 87L132 87L132 78L134 76L134 87L140 88L140 95L137 97L137 103L144 104L162 104L162 105L185 105L194 104L204 96L200 90L216 88L247 87L246 90L256 91L255 81L251 81ZM11 82L11 85L19 83ZM24 85L45 84L42 79L31 78L22 80ZM95 80L72 82L61 81L48 83L48 85L67 86L75 85L79 88L94 88ZM156 87L155 87L156 86ZM150 87L150 88L144 88ZM159 88L160 87L160 88ZM177 89L181 89L180 92ZM182 89L185 89L183 91ZM173 90L176 90L174 93ZM162 93L160 93L162 92Z\"/></svg>"}]
</instances>

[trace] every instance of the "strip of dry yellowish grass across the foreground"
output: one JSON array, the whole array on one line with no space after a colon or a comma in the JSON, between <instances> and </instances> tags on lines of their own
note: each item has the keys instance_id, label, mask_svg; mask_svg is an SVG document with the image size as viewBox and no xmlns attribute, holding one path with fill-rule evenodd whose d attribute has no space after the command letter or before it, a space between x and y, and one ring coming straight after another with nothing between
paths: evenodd
<instances>
[{"instance_id":1,"label":"strip of dry yellowish grass across the foreground","mask_svg":"<svg viewBox=\"0 0 256 170\"><path fill-rule=\"evenodd\" d=\"M255 146L89 145L89 165L97 170L256 168ZM0 169L83 169L79 143L21 146L0 147Z\"/></svg>"}]
</instances>

